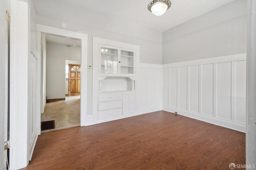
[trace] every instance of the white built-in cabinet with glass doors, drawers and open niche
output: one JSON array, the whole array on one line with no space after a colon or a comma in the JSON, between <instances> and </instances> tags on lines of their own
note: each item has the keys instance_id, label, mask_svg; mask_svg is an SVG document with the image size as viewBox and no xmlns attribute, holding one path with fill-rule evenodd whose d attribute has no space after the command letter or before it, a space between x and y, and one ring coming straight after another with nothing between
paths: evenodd
<instances>
[{"instance_id":1,"label":"white built-in cabinet with glass doors, drawers and open niche","mask_svg":"<svg viewBox=\"0 0 256 170\"><path fill-rule=\"evenodd\" d=\"M97 40L93 43L94 123L136 115L136 57L139 56L139 47L99 38L93 40Z\"/></svg>"}]
</instances>

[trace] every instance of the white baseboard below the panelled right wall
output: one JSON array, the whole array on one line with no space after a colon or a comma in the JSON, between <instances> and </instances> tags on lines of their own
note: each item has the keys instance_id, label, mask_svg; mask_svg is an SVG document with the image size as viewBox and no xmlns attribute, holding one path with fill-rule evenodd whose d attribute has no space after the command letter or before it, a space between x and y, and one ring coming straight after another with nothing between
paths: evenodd
<instances>
[{"instance_id":1,"label":"white baseboard below the panelled right wall","mask_svg":"<svg viewBox=\"0 0 256 170\"><path fill-rule=\"evenodd\" d=\"M171 112L171 113L177 112L178 115L190 117L192 119L196 119L196 120L199 120L199 121L204 121L204 122L207 122L207 123L211 123L213 125L218 125L218 126L221 126L221 127L230 128L230 129L233 129L233 130L237 130L239 132L245 132L246 131L246 125L243 125L243 124L240 124L240 123L235 123L235 122L219 119L219 118L216 118L216 117L210 117L210 116L197 114L197 113L192 113L192 112L188 112L188 111L183 111L181 109L175 109L175 108L166 107L166 106L163 106L163 110Z\"/></svg>"}]
</instances>

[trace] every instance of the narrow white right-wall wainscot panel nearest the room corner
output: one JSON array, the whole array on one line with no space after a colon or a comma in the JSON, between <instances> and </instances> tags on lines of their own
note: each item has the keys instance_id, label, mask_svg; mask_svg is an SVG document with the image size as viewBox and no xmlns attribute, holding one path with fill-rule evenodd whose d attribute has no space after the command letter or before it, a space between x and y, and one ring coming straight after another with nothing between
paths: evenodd
<instances>
[{"instance_id":1,"label":"narrow white right-wall wainscot panel nearest the room corner","mask_svg":"<svg viewBox=\"0 0 256 170\"><path fill-rule=\"evenodd\" d=\"M169 106L169 69L163 69L163 106Z\"/></svg>"}]
</instances>

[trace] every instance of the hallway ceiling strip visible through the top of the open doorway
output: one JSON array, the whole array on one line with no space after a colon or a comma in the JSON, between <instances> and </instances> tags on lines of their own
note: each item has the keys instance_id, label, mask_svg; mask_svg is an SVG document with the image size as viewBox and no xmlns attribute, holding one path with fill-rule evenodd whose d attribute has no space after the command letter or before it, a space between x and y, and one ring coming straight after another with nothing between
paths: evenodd
<instances>
[{"instance_id":1,"label":"hallway ceiling strip visible through the top of the open doorway","mask_svg":"<svg viewBox=\"0 0 256 170\"><path fill-rule=\"evenodd\" d=\"M45 37L46 37L47 43L58 43L63 45L81 47L81 41L78 41L78 40L72 40L69 38L51 36L51 35L46 35Z\"/></svg>"}]
</instances>

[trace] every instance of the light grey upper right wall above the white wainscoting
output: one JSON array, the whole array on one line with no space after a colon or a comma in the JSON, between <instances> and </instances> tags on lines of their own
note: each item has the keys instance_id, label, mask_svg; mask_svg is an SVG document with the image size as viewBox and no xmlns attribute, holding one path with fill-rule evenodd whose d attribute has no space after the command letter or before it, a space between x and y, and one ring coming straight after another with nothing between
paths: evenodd
<instances>
[{"instance_id":1,"label":"light grey upper right wall above the white wainscoting","mask_svg":"<svg viewBox=\"0 0 256 170\"><path fill-rule=\"evenodd\" d=\"M246 53L246 7L234 0L163 32L163 64Z\"/></svg>"}]
</instances>

